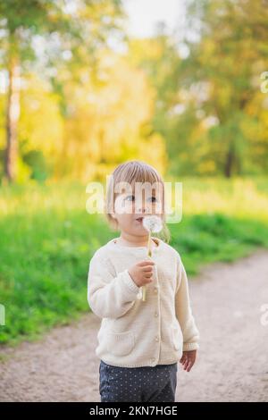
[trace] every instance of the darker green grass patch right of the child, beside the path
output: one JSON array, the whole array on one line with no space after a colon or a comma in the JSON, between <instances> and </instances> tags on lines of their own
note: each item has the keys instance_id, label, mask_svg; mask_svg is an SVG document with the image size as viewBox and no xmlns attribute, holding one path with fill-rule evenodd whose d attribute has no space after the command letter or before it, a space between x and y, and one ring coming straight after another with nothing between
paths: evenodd
<instances>
[{"instance_id":1,"label":"darker green grass patch right of the child, beside the path","mask_svg":"<svg viewBox=\"0 0 268 420\"><path fill-rule=\"evenodd\" d=\"M185 216L171 231L171 245L179 250L187 273L192 275L202 265L231 262L257 247L268 248L268 225L224 214Z\"/></svg>"}]
</instances>

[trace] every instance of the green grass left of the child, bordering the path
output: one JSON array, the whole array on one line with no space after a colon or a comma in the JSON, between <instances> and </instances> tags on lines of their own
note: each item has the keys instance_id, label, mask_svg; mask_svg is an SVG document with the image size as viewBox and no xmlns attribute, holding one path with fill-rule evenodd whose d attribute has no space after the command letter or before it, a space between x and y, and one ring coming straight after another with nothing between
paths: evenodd
<instances>
[{"instance_id":1,"label":"green grass left of the child, bordering the path","mask_svg":"<svg viewBox=\"0 0 268 420\"><path fill-rule=\"evenodd\" d=\"M64 197L70 199L68 189ZM85 210L31 213L30 206L0 222L0 294L6 308L1 343L34 338L87 312L88 262L111 235L100 218Z\"/></svg>"}]
</instances>

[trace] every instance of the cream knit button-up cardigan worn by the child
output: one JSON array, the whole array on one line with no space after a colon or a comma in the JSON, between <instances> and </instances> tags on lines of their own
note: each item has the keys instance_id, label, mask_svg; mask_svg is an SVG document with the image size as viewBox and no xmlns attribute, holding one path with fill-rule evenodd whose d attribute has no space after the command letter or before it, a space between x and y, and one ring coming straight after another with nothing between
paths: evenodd
<instances>
[{"instance_id":1,"label":"cream knit button-up cardigan worn by the child","mask_svg":"<svg viewBox=\"0 0 268 420\"><path fill-rule=\"evenodd\" d=\"M161 239L152 256L146 247L125 247L116 239L96 250L88 269L88 304L102 318L96 356L121 367L172 364L183 350L198 349L188 279L180 254ZM155 261L147 300L128 269Z\"/></svg>"}]
</instances>

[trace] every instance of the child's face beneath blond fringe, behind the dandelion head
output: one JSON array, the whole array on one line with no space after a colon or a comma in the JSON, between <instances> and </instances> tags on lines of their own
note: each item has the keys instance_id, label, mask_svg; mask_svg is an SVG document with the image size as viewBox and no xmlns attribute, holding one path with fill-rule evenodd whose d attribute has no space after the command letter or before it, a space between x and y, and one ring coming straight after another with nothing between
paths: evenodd
<instances>
[{"instance_id":1,"label":"child's face beneath blond fringe, behind the dandelion head","mask_svg":"<svg viewBox=\"0 0 268 420\"><path fill-rule=\"evenodd\" d=\"M129 235L145 236L148 231L142 223L145 215L156 214L163 219L162 191L150 186L144 191L130 191L119 194L114 202L113 218L120 231Z\"/></svg>"}]
</instances>

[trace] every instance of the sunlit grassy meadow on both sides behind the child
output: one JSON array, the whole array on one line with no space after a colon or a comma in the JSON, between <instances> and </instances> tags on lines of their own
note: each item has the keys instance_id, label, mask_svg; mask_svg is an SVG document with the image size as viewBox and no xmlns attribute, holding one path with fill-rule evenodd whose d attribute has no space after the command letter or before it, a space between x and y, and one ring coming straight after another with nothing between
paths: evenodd
<instances>
[{"instance_id":1,"label":"sunlit grassy meadow on both sides behind the child","mask_svg":"<svg viewBox=\"0 0 268 420\"><path fill-rule=\"evenodd\" d=\"M267 179L180 181L183 217L169 228L188 274L268 248ZM0 189L0 344L35 340L88 311L90 256L117 232L86 200L73 183Z\"/></svg>"}]
</instances>

